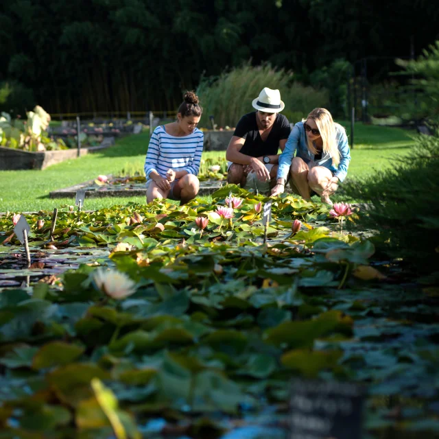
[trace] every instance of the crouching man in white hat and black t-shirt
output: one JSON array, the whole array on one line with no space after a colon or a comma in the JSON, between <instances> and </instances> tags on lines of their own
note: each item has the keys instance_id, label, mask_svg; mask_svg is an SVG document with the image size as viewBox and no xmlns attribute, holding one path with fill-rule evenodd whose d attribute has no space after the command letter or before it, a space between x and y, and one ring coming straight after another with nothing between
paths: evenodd
<instances>
[{"instance_id":1,"label":"crouching man in white hat and black t-shirt","mask_svg":"<svg viewBox=\"0 0 439 439\"><path fill-rule=\"evenodd\" d=\"M276 184L278 149L285 148L291 128L288 119L280 114L285 104L278 90L263 88L252 106L256 111L239 119L228 144L227 181L268 192Z\"/></svg>"}]
</instances>

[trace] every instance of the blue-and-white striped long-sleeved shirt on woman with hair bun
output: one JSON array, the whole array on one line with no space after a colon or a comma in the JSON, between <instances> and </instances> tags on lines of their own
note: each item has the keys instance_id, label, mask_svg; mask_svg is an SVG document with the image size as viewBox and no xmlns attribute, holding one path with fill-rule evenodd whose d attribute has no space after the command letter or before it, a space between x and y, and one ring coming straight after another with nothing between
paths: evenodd
<instances>
[{"instance_id":1,"label":"blue-and-white striped long-sleeved shirt on woman with hair bun","mask_svg":"<svg viewBox=\"0 0 439 439\"><path fill-rule=\"evenodd\" d=\"M147 180L150 172L156 171L166 178L169 168L174 171L187 171L197 175L200 169L204 134L198 128L184 137L167 134L165 127L158 126L152 133L150 145L145 158L145 175Z\"/></svg>"}]
</instances>

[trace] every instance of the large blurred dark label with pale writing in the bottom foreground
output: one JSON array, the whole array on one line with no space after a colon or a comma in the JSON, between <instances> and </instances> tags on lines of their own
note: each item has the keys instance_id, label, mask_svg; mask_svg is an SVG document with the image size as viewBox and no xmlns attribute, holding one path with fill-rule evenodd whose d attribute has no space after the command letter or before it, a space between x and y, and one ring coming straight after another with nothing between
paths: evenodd
<instances>
[{"instance_id":1,"label":"large blurred dark label with pale writing in the bottom foreground","mask_svg":"<svg viewBox=\"0 0 439 439\"><path fill-rule=\"evenodd\" d=\"M364 388L349 382L295 380L289 439L361 439Z\"/></svg>"}]
</instances>

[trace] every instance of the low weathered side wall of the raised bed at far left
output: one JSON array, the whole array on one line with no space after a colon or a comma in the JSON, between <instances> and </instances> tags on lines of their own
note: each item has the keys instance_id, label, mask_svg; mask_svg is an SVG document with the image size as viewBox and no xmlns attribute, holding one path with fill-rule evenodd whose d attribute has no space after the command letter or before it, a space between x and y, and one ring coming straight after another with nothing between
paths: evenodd
<instances>
[{"instance_id":1,"label":"low weathered side wall of the raised bed at far left","mask_svg":"<svg viewBox=\"0 0 439 439\"><path fill-rule=\"evenodd\" d=\"M80 155L104 150L115 144L114 137L106 137L98 146L84 147ZM19 169L45 169L62 161L78 157L78 150L54 150L42 152L29 152L14 148L0 147L0 171Z\"/></svg>"}]
</instances>

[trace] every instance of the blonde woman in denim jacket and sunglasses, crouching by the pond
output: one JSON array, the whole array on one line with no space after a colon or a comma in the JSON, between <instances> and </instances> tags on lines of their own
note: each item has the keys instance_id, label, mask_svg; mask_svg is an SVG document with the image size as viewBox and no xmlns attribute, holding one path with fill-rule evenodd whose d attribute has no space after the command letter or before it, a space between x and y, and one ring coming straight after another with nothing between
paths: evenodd
<instances>
[{"instance_id":1,"label":"blonde woman in denim jacket and sunglasses, crouching by the pond","mask_svg":"<svg viewBox=\"0 0 439 439\"><path fill-rule=\"evenodd\" d=\"M333 121L328 110L314 108L307 119L296 123L289 134L285 150L279 156L272 195L285 191L289 174L292 190L304 200L320 195L322 202L333 204L329 195L346 178L350 161L344 128Z\"/></svg>"}]
</instances>

